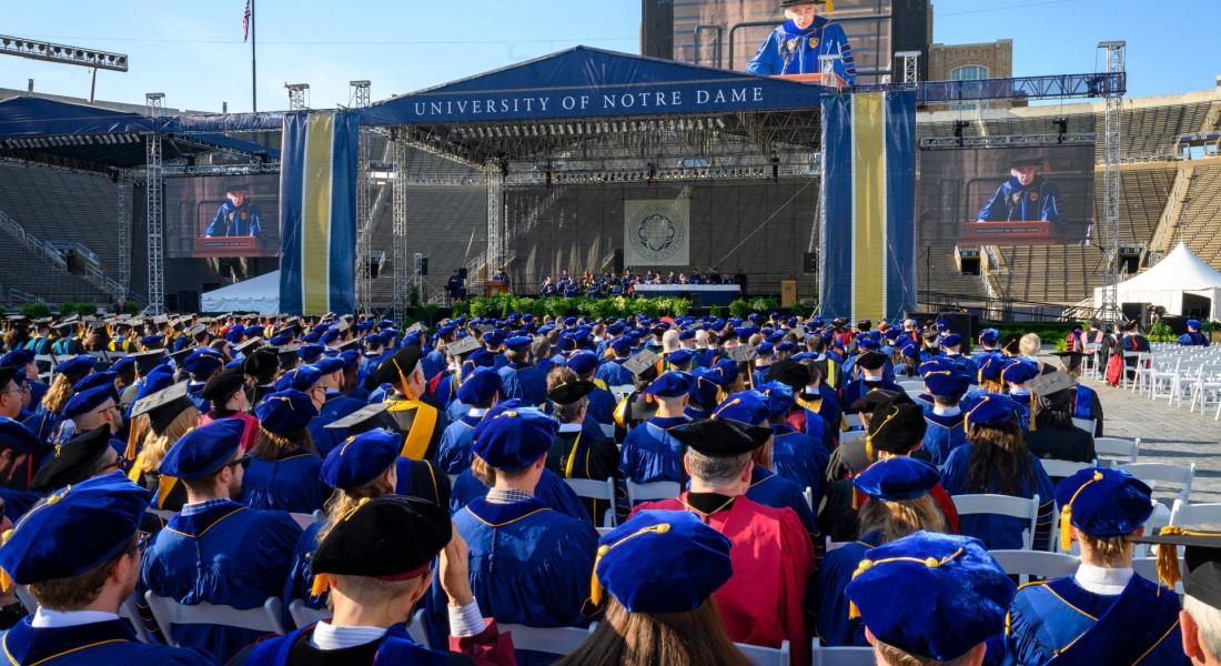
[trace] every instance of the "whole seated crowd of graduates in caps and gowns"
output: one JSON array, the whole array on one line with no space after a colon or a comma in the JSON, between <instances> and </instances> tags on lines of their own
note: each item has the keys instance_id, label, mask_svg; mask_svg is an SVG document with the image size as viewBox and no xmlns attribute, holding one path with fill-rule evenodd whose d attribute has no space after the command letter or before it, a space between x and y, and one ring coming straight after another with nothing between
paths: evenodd
<instances>
[{"instance_id":1,"label":"whole seated crowd of graduates in caps and gowns","mask_svg":"<svg viewBox=\"0 0 1221 666\"><path fill-rule=\"evenodd\" d=\"M806 665L812 638L890 665L1221 655L1217 538L1145 535L1151 490L1122 470L1043 469L1093 462L1104 417L1083 352L1044 360L1033 334L778 314L2 332L13 664L546 664L498 624L591 622L563 664L747 664L735 643L786 640ZM107 340L79 353L82 334ZM630 500L657 483L678 491ZM966 494L1038 496L1033 547L1077 540L1081 568L1016 589L989 550L1023 547L1029 523L958 516ZM1138 540L1186 546L1182 601L1177 567L1133 573ZM147 593L276 598L295 628L177 624L172 648ZM133 594L151 642L118 615Z\"/></svg>"}]
</instances>

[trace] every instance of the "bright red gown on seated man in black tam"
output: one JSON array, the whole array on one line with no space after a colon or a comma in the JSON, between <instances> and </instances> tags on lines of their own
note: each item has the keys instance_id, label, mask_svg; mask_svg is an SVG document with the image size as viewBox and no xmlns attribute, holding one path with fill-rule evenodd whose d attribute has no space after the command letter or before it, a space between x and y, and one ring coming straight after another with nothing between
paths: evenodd
<instances>
[{"instance_id":1,"label":"bright red gown on seated man in black tam","mask_svg":"<svg viewBox=\"0 0 1221 666\"><path fill-rule=\"evenodd\" d=\"M687 510L686 492L639 505L635 511L647 508ZM734 576L713 594L729 637L768 648L779 648L788 639L792 664L807 666L811 655L803 602L814 556L797 514L746 497L736 497L726 511L695 513L734 545L729 551Z\"/></svg>"}]
</instances>

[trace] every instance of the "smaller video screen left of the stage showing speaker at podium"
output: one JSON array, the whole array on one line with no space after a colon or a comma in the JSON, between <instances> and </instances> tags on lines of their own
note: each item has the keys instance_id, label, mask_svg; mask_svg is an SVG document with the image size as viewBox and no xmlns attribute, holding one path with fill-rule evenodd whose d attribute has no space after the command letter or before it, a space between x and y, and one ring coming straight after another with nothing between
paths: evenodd
<instances>
[{"instance_id":1,"label":"smaller video screen left of the stage showing speaker at podium","mask_svg":"<svg viewBox=\"0 0 1221 666\"><path fill-rule=\"evenodd\" d=\"M280 176L198 176L165 181L166 255L275 257Z\"/></svg>"}]
</instances>

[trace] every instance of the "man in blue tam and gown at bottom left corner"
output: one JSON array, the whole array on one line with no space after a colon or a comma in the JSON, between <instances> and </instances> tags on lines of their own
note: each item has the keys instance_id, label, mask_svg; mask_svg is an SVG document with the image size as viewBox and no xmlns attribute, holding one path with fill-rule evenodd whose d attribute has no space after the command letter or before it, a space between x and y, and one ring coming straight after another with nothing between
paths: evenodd
<instances>
[{"instance_id":1,"label":"man in blue tam and gown at bottom left corner","mask_svg":"<svg viewBox=\"0 0 1221 666\"><path fill-rule=\"evenodd\" d=\"M10 664L208 664L193 650L140 643L118 617L139 579L148 506L148 491L110 474L55 492L5 535L0 579L38 602L0 638Z\"/></svg>"}]
</instances>

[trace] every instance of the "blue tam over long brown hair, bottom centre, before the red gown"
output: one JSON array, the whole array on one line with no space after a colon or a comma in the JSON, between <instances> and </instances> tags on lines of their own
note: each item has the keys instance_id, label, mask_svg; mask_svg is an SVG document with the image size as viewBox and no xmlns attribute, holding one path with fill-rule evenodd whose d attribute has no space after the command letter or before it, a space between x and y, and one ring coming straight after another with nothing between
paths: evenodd
<instances>
[{"instance_id":1,"label":"blue tam over long brown hair, bottom centre, before the red gown","mask_svg":"<svg viewBox=\"0 0 1221 666\"><path fill-rule=\"evenodd\" d=\"M730 541L689 511L641 511L598 539L591 598L630 612L690 612L734 574Z\"/></svg>"}]
</instances>

